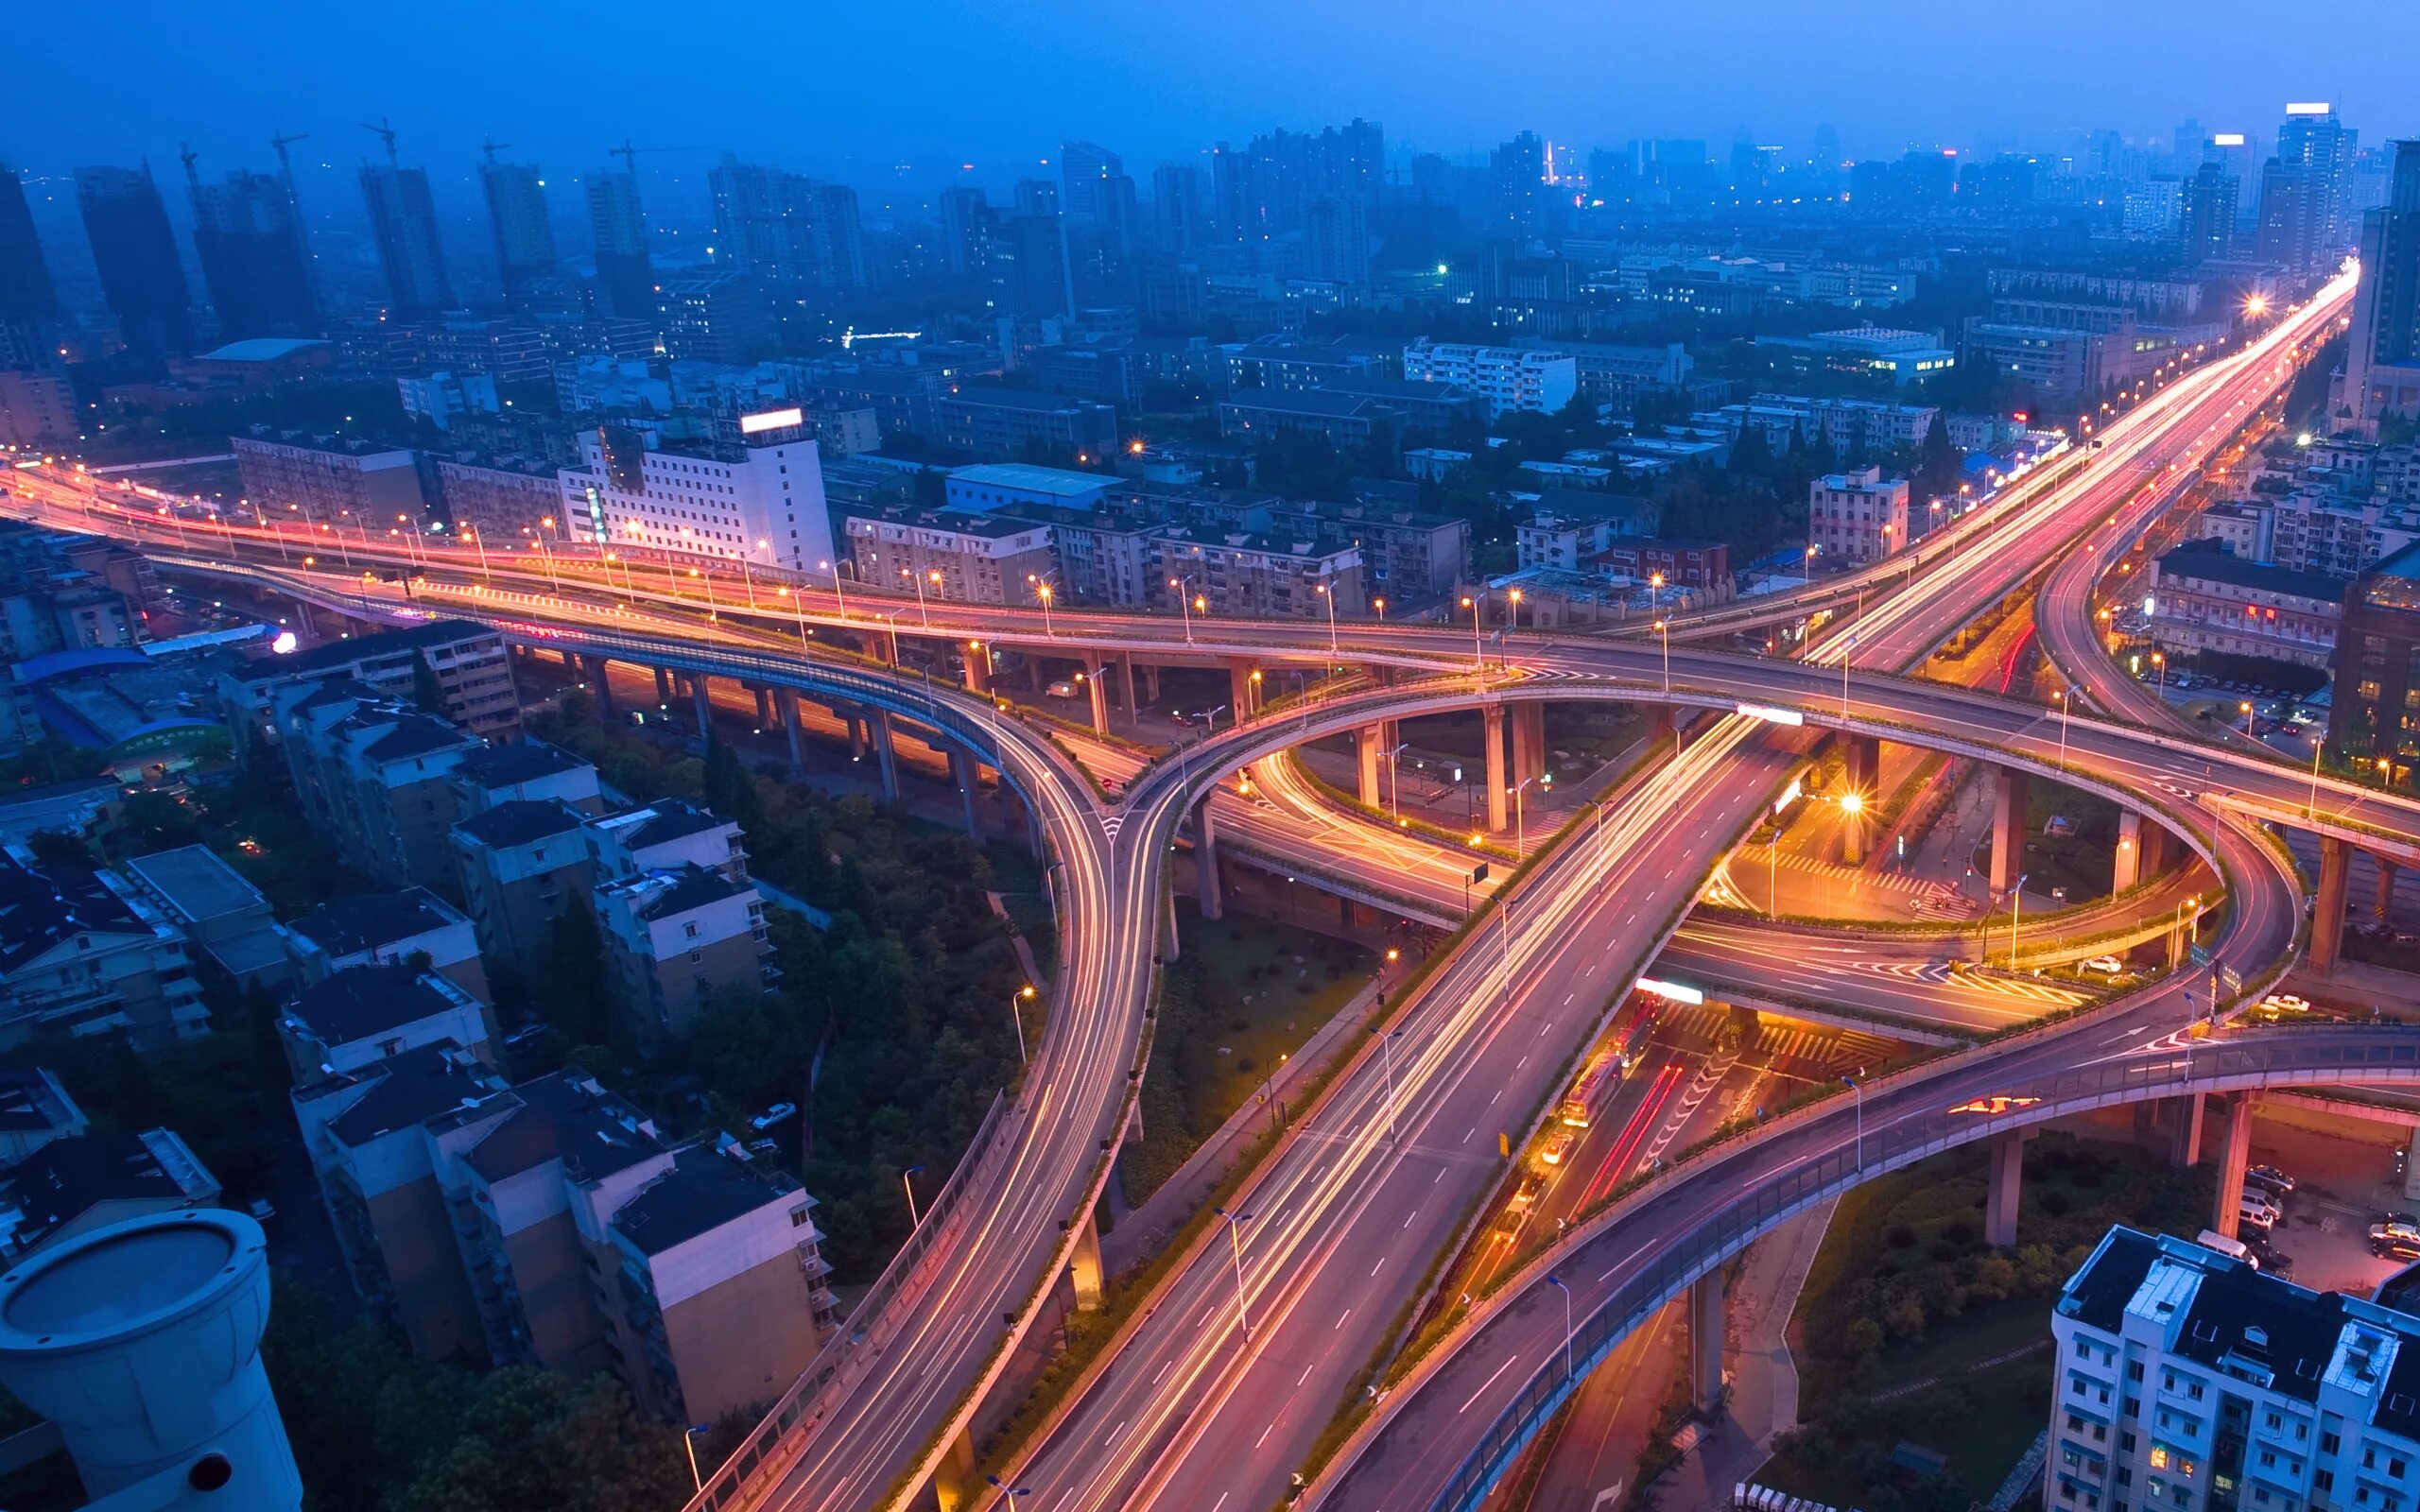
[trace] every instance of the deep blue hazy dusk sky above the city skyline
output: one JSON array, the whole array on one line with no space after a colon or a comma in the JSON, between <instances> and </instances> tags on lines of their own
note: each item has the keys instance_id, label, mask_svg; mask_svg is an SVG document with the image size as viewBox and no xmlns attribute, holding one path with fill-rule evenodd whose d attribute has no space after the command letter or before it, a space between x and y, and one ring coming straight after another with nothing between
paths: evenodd
<instances>
[{"instance_id":1,"label":"deep blue hazy dusk sky above the city skyline","mask_svg":"<svg viewBox=\"0 0 2420 1512\"><path fill-rule=\"evenodd\" d=\"M1408 5L1372 27L1270 0L1150 17L1099 0L1014 17L917 0L818 17L743 7L678 29L641 7L557 0L336 19L278 0L220 17L230 46L194 51L179 27L104 31L99 12L44 12L19 19L29 56L109 63L29 70L0 160L174 169L189 143L203 172L261 167L269 133L288 131L310 133L305 165L351 169L378 150L356 123L392 116L404 162L428 165L440 194L472 186L482 138L566 179L632 138L910 189L1007 181L1062 140L1152 165L1350 116L1382 121L1392 152L1450 157L1525 128L1583 150L1631 135L1721 150L1750 135L1796 152L1830 123L1856 157L2055 150L2096 128L2166 140L2183 119L2268 135L2287 99L2338 104L2364 140L2420 131L2396 77L2420 51L2420 12L2384 0L2340 7L2328 29L2241 0L2197 7L2190 29L2076 0L2023 12L1902 0L1854 24L1757 0L1725 12L1721 34L1684 7L1549 2L1476 34L1452 24L1459 15ZM2364 46L2343 48L2345 34ZM484 46L465 46L472 36ZM2144 68L2154 56L2161 68ZM532 87L540 77L552 82Z\"/></svg>"}]
</instances>

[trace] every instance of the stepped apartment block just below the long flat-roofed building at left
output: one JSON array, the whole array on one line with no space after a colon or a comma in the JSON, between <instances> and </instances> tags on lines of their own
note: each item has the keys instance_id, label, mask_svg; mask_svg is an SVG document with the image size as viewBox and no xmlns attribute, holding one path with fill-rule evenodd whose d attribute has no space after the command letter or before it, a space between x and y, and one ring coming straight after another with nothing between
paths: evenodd
<instances>
[{"instance_id":1,"label":"stepped apartment block just below the long flat-roofed building at left","mask_svg":"<svg viewBox=\"0 0 2420 1512\"><path fill-rule=\"evenodd\" d=\"M453 772L484 740L346 682L281 687L276 731L302 813L353 866L397 885L453 881Z\"/></svg>"}]
</instances>

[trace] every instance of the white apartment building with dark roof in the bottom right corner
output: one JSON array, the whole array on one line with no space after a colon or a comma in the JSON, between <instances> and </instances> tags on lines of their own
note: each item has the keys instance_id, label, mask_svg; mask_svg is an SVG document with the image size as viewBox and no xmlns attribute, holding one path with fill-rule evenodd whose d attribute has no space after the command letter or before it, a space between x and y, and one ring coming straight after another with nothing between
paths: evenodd
<instances>
[{"instance_id":1,"label":"white apartment building with dark roof in the bottom right corner","mask_svg":"<svg viewBox=\"0 0 2420 1512\"><path fill-rule=\"evenodd\" d=\"M2052 1512L2410 1507L2420 1318L2405 1311L2110 1229L2050 1338Z\"/></svg>"}]
</instances>

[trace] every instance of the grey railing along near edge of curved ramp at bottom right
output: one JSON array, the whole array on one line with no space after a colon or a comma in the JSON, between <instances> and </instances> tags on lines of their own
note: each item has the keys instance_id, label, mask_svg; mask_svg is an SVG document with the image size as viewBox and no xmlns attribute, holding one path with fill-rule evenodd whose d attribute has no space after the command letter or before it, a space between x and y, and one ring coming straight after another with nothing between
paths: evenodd
<instances>
[{"instance_id":1,"label":"grey railing along near edge of curved ramp at bottom right","mask_svg":"<svg viewBox=\"0 0 2420 1512\"><path fill-rule=\"evenodd\" d=\"M1965 1103L1938 1113L1892 1118L1861 1139L1849 1137L1813 1161L1740 1190L1721 1212L1694 1224L1677 1243L1663 1246L1655 1260L1614 1287L1573 1328L1568 1350L1554 1350L1481 1432L1430 1502L1430 1512L1476 1512L1512 1459L1614 1345L1692 1282L1771 1231L1774 1224L1825 1198L1996 1132L2110 1103L2231 1086L2326 1086L2372 1077L2420 1079L2420 1033L2410 1028L2347 1033L2340 1028L2333 1035L2292 1031L2265 1033L2246 1043L2200 1043L2190 1050L2180 1048L2173 1057L2127 1060L2026 1081L2011 1093L2011 1106L1996 1113L1963 1110L1972 1108ZM2018 1096L2033 1101L2013 1103ZM1832 1113L1837 1125L1849 1125L1854 1118L1851 1108ZM1706 1181L1721 1181L1721 1168L1711 1168Z\"/></svg>"}]
</instances>

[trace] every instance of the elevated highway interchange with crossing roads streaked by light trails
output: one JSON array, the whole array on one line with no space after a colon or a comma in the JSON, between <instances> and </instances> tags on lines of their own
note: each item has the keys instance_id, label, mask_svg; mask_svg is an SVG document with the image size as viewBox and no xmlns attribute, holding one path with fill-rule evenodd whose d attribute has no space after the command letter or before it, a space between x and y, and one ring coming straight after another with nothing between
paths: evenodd
<instances>
[{"instance_id":1,"label":"elevated highway interchange with crossing roads streaked by light trails","mask_svg":"<svg viewBox=\"0 0 2420 1512\"><path fill-rule=\"evenodd\" d=\"M2188 472L2224 440L2282 385L2287 370L2277 348L2333 319L2343 295L2345 288L2333 288L2263 348L2197 368L2105 426L2101 450L2081 452L2038 486L2016 491L1989 530L1965 535L1926 571L1905 573L1895 593L1871 581L1878 602L1861 605L1854 617L1839 614L1808 660L1672 646L1670 692L1665 651L1653 641L1515 631L1498 646L1481 646L1483 660L1500 665L1479 668L1471 636L1452 627L1387 627L1384 639L1370 627L1353 627L1350 644L1331 651L1319 634L1324 627L1203 622L1186 627L1186 641L1179 641L1176 624L1152 617L1060 612L1055 624L1036 624L1033 614L1016 610L987 607L980 617L961 617L963 610L932 605L939 634L980 634L1087 660L1116 653L1169 660L1333 658L1404 670L1394 687L1307 702L1222 731L1183 760L1159 760L1140 772L1113 810L1065 755L1019 721L999 719L985 699L883 670L818 665L828 658L774 651L774 634L733 629L731 614L704 627L678 605L636 607L636 593L535 593L532 573L518 571L515 581L525 588L489 617L518 624L515 634L532 641L796 685L953 726L951 733L997 762L1036 806L1060 861L1067 975L1036 1072L1009 1118L1009 1144L987 1159L987 1178L970 1188L968 1217L953 1243L937 1246L941 1253L929 1260L937 1275L917 1289L920 1304L898 1309L905 1316L878 1318L878 1360L859 1350L849 1389L830 1391L801 1413L808 1430L779 1435L784 1447L803 1444L803 1454L784 1454L777 1490L750 1497L750 1505L876 1505L905 1488L905 1471L939 1464L946 1449L941 1430L970 1415L973 1391L1004 1357L999 1318L1016 1318L1012 1331L1031 1321L1028 1302L1077 1241L1062 1222L1089 1207L1106 1176L1104 1142L1113 1139L1125 1115L1133 1093L1128 1072L1140 1064L1162 859L1186 815L1222 777L1251 762L1266 772L1270 757L1307 738L1474 702L1539 697L1670 699L1716 716L1701 721L1677 757L1621 786L1602 823L1575 830L1568 844L1525 871L1496 900L1491 929L1474 931L1399 1006L1387 1040L1362 1052L1237 1198L1237 1210L1251 1212L1237 1234L1244 1241L1241 1270L1229 1265L1225 1236L1205 1234L1200 1253L1174 1272L1150 1314L1120 1340L1106 1374L1021 1464L1004 1471L1012 1488L1033 1490L1036 1507L1217 1512L1266 1507L1285 1493L1290 1471L1307 1461L1333 1408L1360 1396L1370 1381L1370 1364L1396 1338L1401 1304L1416 1294L1430 1258L1467 1229L1476 1202L1498 1183L1493 1135L1517 1142L1527 1132L1604 1014L1665 948L1776 784L1803 762L1810 726L2062 772L2079 786L2149 806L2229 881L2231 907L2207 941L2212 956L2246 985L2277 970L2294 946L2299 883L2280 847L2222 810L2229 803L2258 803L2268 813L2309 806L2314 820L2360 835L2364 844L2410 849L2403 837L2420 835L2410 803L2333 781L2309 789L2306 798L2304 777L2268 757L2185 748L2173 735L2154 740L2103 719L2059 721L2035 704L1909 682L1885 668L1921 663L1958 624L2074 542L2081 539L2084 549L2067 552L2069 566L2055 585L2064 573L2086 573L2072 564L2108 556L2120 537L2130 539L2159 506L2156 489L2144 484ZM24 491L12 503L22 498ZM2110 515L2122 518L2105 525ZM133 535L123 520L111 532ZM278 542L271 556L261 537L244 542L232 525L215 552L208 532L198 552L191 539L162 542L162 535L157 523L145 520L145 539L167 559L240 559L249 564L247 573L271 578L298 571L288 542ZM469 576L453 566L457 578ZM2086 602L2096 576L2081 578ZM450 610L477 598L448 593L431 602ZM2142 719L2134 706L2139 689L2084 651L2098 651L2088 619L2081 641L2052 639L2055 607L2045 593L2042 634L2059 665L2093 685L2098 706ZM866 624L864 605L854 610L845 614L840 602L801 593L786 612L801 627L813 619L828 629L859 629ZM900 624L898 610L893 605L891 622L898 634L922 634L922 624ZM1854 658L1846 680L1839 670L1844 658ZM1767 716L1742 714L1742 704ZM1287 813L1304 818L1300 806ZM1249 818L1241 823L1251 825ZM1316 849L1316 837L1309 844ZM1699 929L1667 956L1665 970L1675 958L1692 960L1689 951L1711 951L1718 963L1725 953L1735 958L1752 948L1721 936L1721 929L1745 927L1718 927L1711 939ZM2134 1064L2166 1064L2166 1052L2144 1060L2144 1045L2163 1043L2161 1035L2185 1023L2193 1011L2185 994L2193 989L2207 992L2197 975L2171 977L2069 1028L2035 1031L1873 1086L1861 1098L1866 1139L1880 1149L1888 1139L1883 1130L1917 1130L1951 1101L2042 1084L2079 1057L2132 1055ZM1946 994L1919 989L1914 997ZM1718 1222L1730 1195L1837 1156L1846 1127L1846 1110L1837 1103L1675 1171L1653 1214L1614 1210L1575 1229L1551 1263L1602 1277L1575 1302L1617 1299ZM1600 1258L1604 1263L1590 1270ZM1544 1369L1539 1362L1551 1350L1537 1347L1537 1331L1546 1311L1561 1338L1561 1299L1546 1306L1539 1292L1534 1277L1498 1292L1447 1347L1430 1352L1421 1367L1428 1374L1396 1391L1365 1425L1350 1471L1321 1483L1324 1505L1416 1507L1430 1505L1450 1483L1467 1485L1469 1473L1454 1476L1467 1471L1462 1461L1481 1442L1479 1430L1532 1389L1534 1372ZM1237 1306L1251 1318L1249 1338L1237 1323ZM1515 1369L1525 1352L1529 1364ZM1483 1367L1491 1374L1479 1384L1474 1372ZM1447 1396L1452 1410L1433 1406Z\"/></svg>"}]
</instances>

